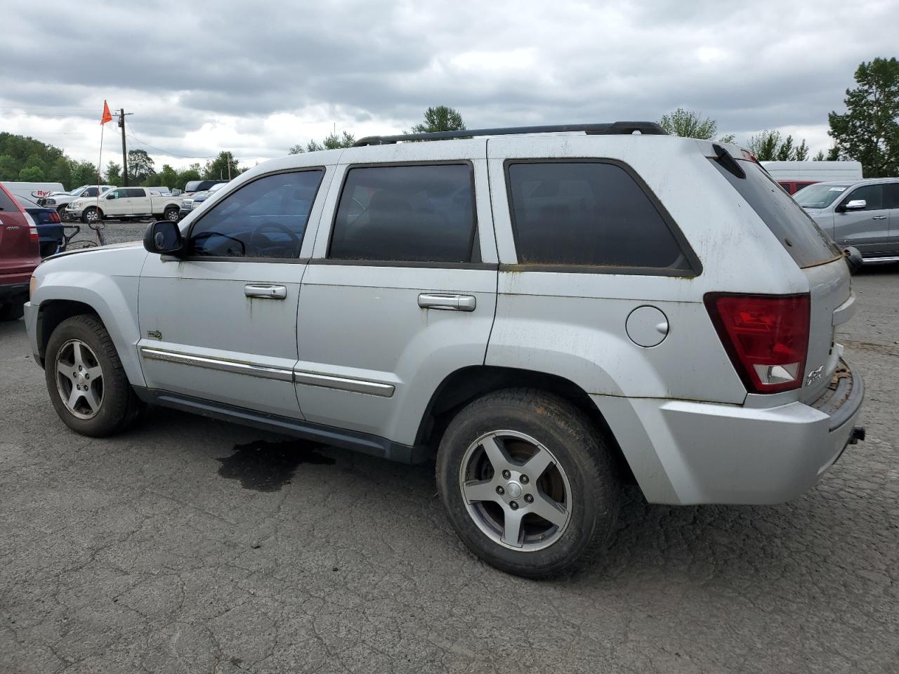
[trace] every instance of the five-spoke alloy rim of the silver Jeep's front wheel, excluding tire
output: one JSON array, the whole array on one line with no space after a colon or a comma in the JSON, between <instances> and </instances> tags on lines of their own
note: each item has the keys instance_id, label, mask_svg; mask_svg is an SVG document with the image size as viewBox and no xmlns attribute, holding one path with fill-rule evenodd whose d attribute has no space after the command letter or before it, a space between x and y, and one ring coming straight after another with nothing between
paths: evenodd
<instances>
[{"instance_id":1,"label":"five-spoke alloy rim of the silver Jeep's front wheel, excluding tire","mask_svg":"<svg viewBox=\"0 0 899 674\"><path fill-rule=\"evenodd\" d=\"M57 352L57 390L66 409L78 419L93 419L103 403L100 360L84 341L69 340Z\"/></svg>"}]
</instances>

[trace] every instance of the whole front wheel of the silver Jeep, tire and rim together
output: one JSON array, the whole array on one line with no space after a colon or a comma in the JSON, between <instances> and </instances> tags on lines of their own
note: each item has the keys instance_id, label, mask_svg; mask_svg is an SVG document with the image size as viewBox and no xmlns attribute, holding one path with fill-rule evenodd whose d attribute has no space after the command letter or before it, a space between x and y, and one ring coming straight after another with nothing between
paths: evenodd
<instances>
[{"instance_id":1,"label":"whole front wheel of the silver Jeep, tire and rim together","mask_svg":"<svg viewBox=\"0 0 899 674\"><path fill-rule=\"evenodd\" d=\"M44 361L50 401L72 430L102 438L125 430L142 404L96 316L67 318L50 335Z\"/></svg>"}]
</instances>

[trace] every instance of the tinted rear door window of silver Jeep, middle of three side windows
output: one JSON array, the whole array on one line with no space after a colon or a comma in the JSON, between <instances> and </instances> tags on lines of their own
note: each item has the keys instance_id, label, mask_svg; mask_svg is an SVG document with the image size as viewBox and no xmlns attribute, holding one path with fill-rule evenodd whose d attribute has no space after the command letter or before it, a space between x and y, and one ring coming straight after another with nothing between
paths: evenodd
<instances>
[{"instance_id":1,"label":"tinted rear door window of silver Jeep, middle of three side windows","mask_svg":"<svg viewBox=\"0 0 899 674\"><path fill-rule=\"evenodd\" d=\"M470 164L363 166L347 172L328 257L472 262Z\"/></svg>"}]
</instances>

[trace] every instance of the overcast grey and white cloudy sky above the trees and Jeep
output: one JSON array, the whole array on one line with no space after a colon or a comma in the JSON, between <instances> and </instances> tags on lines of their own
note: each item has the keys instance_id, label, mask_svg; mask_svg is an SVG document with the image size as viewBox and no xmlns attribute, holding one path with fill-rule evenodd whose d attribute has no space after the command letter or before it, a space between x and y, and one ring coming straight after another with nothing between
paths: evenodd
<instances>
[{"instance_id":1,"label":"overcast grey and white cloudy sky above the trees and Jeep","mask_svg":"<svg viewBox=\"0 0 899 674\"><path fill-rule=\"evenodd\" d=\"M335 128L408 129L429 105L469 129L681 106L740 141L780 129L814 153L859 63L899 56L899 0L204 5L4 4L0 130L96 161L106 99L134 113L129 148L157 167L222 149L255 164Z\"/></svg>"}]
</instances>

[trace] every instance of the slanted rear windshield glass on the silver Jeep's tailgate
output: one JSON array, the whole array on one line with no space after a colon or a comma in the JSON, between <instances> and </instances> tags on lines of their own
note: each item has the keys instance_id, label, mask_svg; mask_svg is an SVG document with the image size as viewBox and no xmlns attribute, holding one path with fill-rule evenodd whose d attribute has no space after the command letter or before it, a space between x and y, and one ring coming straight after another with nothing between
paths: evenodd
<instances>
[{"instance_id":1,"label":"slanted rear windshield glass on the silver Jeep's tailgate","mask_svg":"<svg viewBox=\"0 0 899 674\"><path fill-rule=\"evenodd\" d=\"M740 160L746 173L739 178L717 160L712 159L718 171L746 200L761 220L778 237L778 241L800 267L830 262L840 257L830 237L823 233L806 211L797 204L777 182L755 162Z\"/></svg>"}]
</instances>

